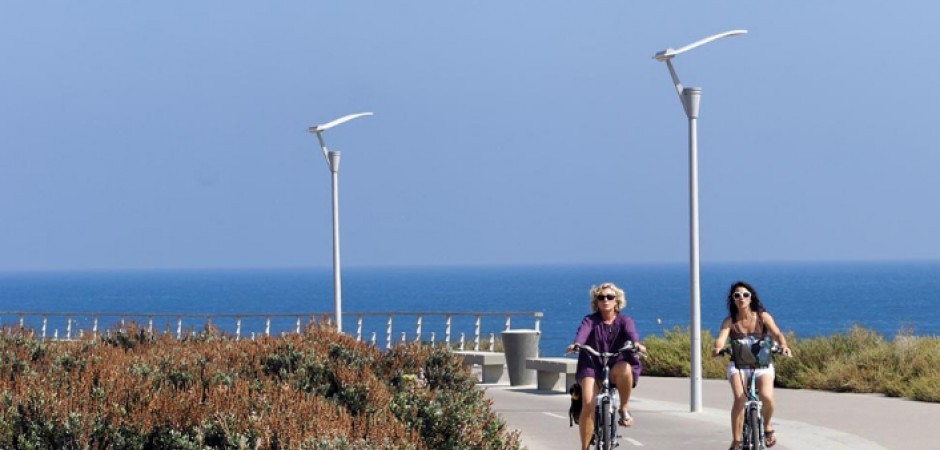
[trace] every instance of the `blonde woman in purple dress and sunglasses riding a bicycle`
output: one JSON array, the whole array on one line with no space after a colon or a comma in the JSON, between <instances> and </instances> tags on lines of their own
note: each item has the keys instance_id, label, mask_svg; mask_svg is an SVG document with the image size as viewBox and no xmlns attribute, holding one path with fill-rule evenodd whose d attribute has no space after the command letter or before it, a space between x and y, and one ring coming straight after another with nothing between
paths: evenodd
<instances>
[{"instance_id":1,"label":"blonde woman in purple dress and sunglasses riding a bicycle","mask_svg":"<svg viewBox=\"0 0 940 450\"><path fill-rule=\"evenodd\" d=\"M584 316L574 342L566 351L572 353L580 345L590 345L599 352L615 352L623 347L627 341L636 344L640 353L646 353L646 347L640 344L640 335L630 316L620 314L626 308L627 298L623 289L613 283L604 283L594 286L590 291L591 314ZM620 426L633 425L630 415L630 393L636 386L640 377L640 360L636 354L621 353L608 362L612 365L610 370L611 382L617 386L620 393L620 408L618 409ZM597 395L598 377L603 376L602 361L600 358L581 352L578 355L578 370L575 378L581 385L581 417L578 420L578 429L581 433L581 448L587 450L594 432L594 396Z\"/></svg>"}]
</instances>

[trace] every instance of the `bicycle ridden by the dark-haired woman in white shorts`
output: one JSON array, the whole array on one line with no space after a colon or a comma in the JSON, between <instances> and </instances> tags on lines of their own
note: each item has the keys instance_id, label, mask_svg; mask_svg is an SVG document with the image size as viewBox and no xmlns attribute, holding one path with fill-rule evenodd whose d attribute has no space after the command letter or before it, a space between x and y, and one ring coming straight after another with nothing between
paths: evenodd
<instances>
[{"instance_id":1,"label":"bicycle ridden by the dark-haired woman in white shorts","mask_svg":"<svg viewBox=\"0 0 940 450\"><path fill-rule=\"evenodd\" d=\"M728 355L734 360L734 367L738 370L741 379L741 387L744 388L744 395L747 400L744 402L744 425L741 432L742 450L764 450L764 416L761 408L764 403L761 402L757 393L757 369L767 367L770 364L771 354L782 353L780 347L769 339L763 339L757 344L758 352L749 349L747 345L732 345L718 352L718 355ZM737 353L736 353L737 352ZM761 353L764 354L761 354ZM746 353L746 354L740 354ZM744 371L750 369L747 381L744 380Z\"/></svg>"}]
</instances>

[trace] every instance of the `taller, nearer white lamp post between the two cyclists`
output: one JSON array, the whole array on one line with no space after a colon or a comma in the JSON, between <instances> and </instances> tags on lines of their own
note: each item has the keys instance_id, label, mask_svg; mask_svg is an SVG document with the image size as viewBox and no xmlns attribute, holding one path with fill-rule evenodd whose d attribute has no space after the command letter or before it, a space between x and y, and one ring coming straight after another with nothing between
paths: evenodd
<instances>
[{"instance_id":1,"label":"taller, nearer white lamp post between the two cyclists","mask_svg":"<svg viewBox=\"0 0 940 450\"><path fill-rule=\"evenodd\" d=\"M682 87L675 68L672 67L672 58L679 56L693 48L700 47L711 41L724 37L737 36L747 33L747 30L732 30L709 36L693 42L678 50L667 48L656 53L653 59L663 61L669 67L669 74L676 86L682 108L689 118L689 309L690 309L690 351L692 353L691 370L691 409L692 412L702 411L702 307L699 283L699 244L698 244L698 109L702 96L702 88Z\"/></svg>"}]
</instances>

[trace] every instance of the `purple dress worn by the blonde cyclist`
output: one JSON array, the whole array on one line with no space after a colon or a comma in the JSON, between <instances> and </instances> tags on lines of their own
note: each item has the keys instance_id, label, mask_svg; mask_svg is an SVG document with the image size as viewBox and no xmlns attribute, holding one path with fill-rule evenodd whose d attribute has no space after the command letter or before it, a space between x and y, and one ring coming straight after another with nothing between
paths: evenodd
<instances>
[{"instance_id":1,"label":"purple dress worn by the blonde cyclist","mask_svg":"<svg viewBox=\"0 0 940 450\"><path fill-rule=\"evenodd\" d=\"M610 325L604 324L600 313L588 314L581 320L578 326L578 332L574 335L574 342L584 345L590 345L599 352L615 352L623 347L627 341L635 343L640 342L640 334L636 331L636 325L630 316L617 314L614 322ZM639 358L633 353L621 353L610 358L608 364L613 367L619 361L627 361L633 372L633 385L640 379L642 365ZM602 374L601 358L581 352L578 355L578 371L575 373L575 379L581 383L584 377L600 378Z\"/></svg>"}]
</instances>

